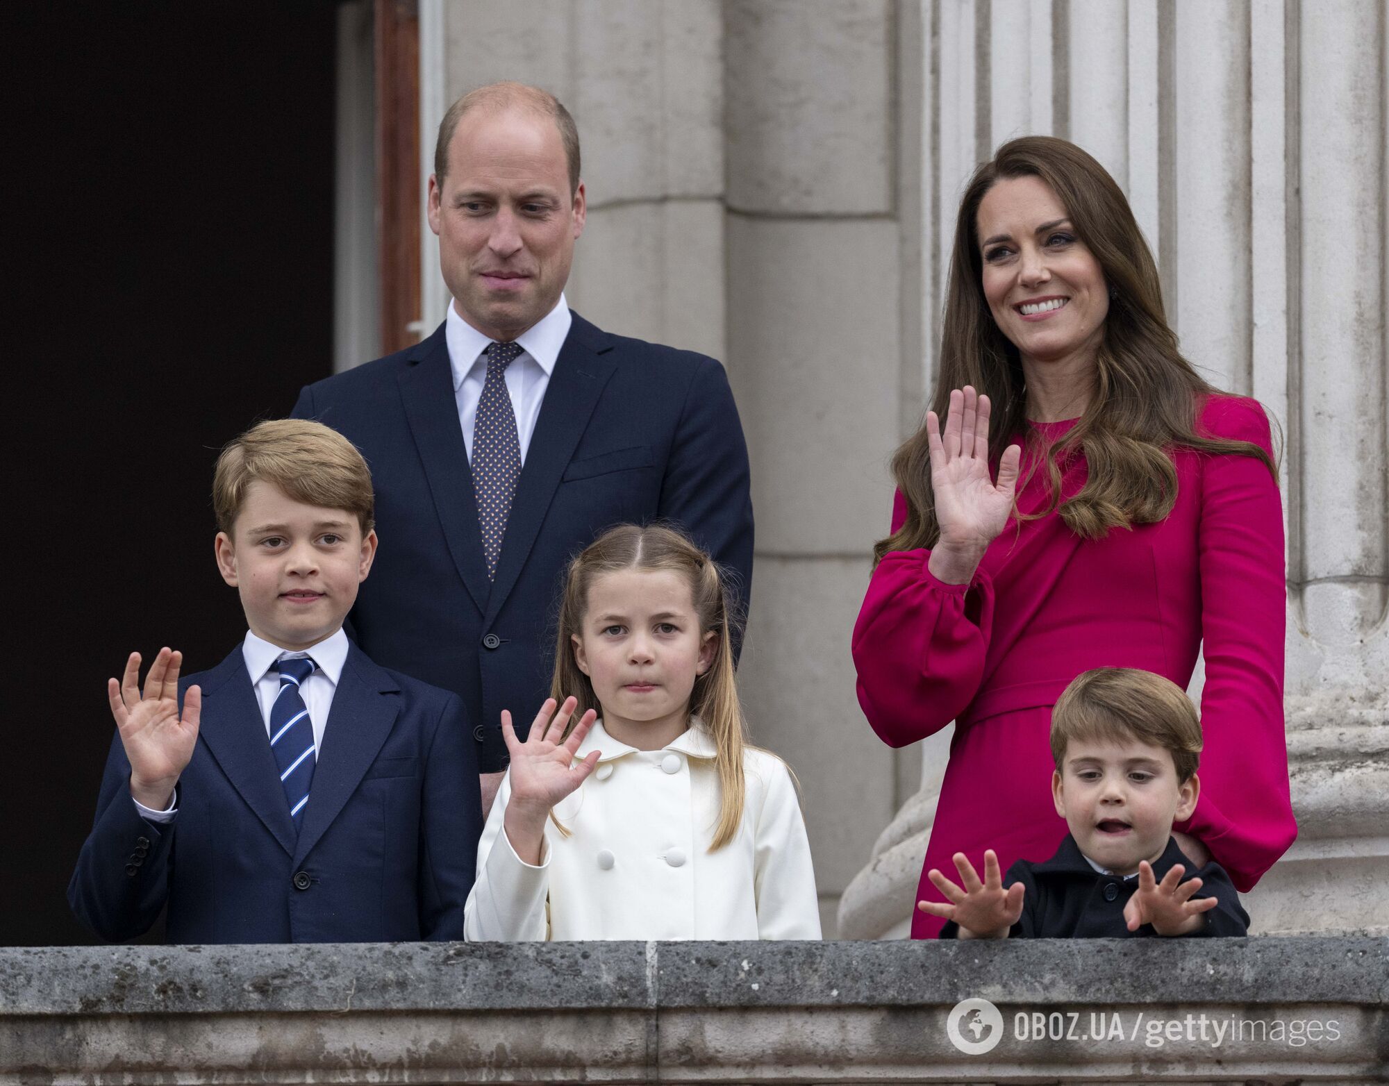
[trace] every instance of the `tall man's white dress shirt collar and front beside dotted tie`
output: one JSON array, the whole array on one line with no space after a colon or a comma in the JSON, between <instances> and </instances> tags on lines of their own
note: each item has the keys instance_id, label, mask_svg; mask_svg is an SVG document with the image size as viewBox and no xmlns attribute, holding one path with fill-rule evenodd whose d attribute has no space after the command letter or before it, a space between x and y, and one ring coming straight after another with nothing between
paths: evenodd
<instances>
[{"instance_id":1,"label":"tall man's white dress shirt collar and front beside dotted tie","mask_svg":"<svg viewBox=\"0 0 1389 1086\"><path fill-rule=\"evenodd\" d=\"M507 394L511 410L517 415L517 440L521 443L521 462L525 464L535 421L540 415L540 403L554 372L554 361L560 347L569 335L574 315L560 294L560 301L533 326L517 336L517 346L524 351L507 367ZM463 443L468 449L468 462L472 462L472 428L478 421L478 400L482 399L482 385L488 378L488 360L483 351L493 340L482 335L458 315L454 303L449 303L444 318L444 343L449 347L449 367L453 369L453 394L458 401L458 425L463 426Z\"/></svg>"}]
</instances>

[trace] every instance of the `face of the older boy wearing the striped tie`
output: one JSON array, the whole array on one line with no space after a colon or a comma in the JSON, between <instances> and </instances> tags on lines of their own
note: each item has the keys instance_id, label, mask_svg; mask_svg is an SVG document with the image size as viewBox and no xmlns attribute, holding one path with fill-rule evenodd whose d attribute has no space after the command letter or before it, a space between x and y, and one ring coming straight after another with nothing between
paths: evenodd
<instances>
[{"instance_id":1,"label":"face of the older boy wearing the striped tie","mask_svg":"<svg viewBox=\"0 0 1389 1086\"><path fill-rule=\"evenodd\" d=\"M371 569L376 533L363 539L354 514L306 506L256 479L215 550L251 633L303 651L342 628Z\"/></svg>"}]
</instances>

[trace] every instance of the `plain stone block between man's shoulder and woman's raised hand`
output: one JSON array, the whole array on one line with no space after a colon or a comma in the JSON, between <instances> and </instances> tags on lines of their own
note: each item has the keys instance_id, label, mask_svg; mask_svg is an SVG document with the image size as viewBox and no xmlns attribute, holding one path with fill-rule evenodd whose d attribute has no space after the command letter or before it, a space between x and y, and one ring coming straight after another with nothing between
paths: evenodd
<instances>
[{"instance_id":1,"label":"plain stone block between man's shoulder and woman's raised hand","mask_svg":"<svg viewBox=\"0 0 1389 1086\"><path fill-rule=\"evenodd\" d=\"M888 532L897 244L886 219L729 217L729 372L758 553L867 555Z\"/></svg>"}]
</instances>

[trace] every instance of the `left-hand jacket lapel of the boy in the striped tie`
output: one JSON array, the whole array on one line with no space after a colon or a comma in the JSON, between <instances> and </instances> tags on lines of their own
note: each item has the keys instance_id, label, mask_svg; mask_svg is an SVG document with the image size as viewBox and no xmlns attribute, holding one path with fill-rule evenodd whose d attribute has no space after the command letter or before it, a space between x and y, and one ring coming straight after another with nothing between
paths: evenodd
<instances>
[{"instance_id":1,"label":"left-hand jacket lapel of the boy in the striped tie","mask_svg":"<svg viewBox=\"0 0 1389 1086\"><path fill-rule=\"evenodd\" d=\"M294 822L289 817L279 768L265 733L265 718L261 717L251 678L246 674L240 646L208 672L201 686L199 739L207 744L247 807L275 835L281 847L293 854Z\"/></svg>"}]
</instances>

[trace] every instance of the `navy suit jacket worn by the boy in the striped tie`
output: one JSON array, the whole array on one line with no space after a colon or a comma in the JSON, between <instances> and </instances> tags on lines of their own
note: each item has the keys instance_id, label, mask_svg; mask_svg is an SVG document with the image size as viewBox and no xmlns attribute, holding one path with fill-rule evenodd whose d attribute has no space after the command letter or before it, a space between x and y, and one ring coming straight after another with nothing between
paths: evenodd
<instances>
[{"instance_id":1,"label":"navy suit jacket worn by the boy in the striped tie","mask_svg":"<svg viewBox=\"0 0 1389 1086\"><path fill-rule=\"evenodd\" d=\"M242 649L197 683L203 714L172 822L131 799L119 735L68 886L78 918L119 942L168 903L171 943L463 939L482 799L453 694L349 649L299 833Z\"/></svg>"}]
</instances>

